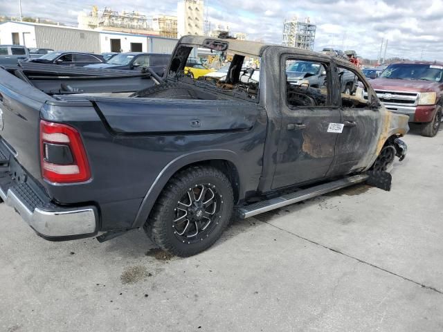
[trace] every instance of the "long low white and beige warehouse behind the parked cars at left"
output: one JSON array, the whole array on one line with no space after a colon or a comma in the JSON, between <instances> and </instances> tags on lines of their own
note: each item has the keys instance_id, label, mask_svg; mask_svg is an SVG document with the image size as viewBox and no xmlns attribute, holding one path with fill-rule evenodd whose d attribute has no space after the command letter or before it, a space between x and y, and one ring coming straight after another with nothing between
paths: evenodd
<instances>
[{"instance_id":1,"label":"long low white and beige warehouse behind the parked cars at left","mask_svg":"<svg viewBox=\"0 0 443 332\"><path fill-rule=\"evenodd\" d=\"M172 53L177 39L26 22L0 24L0 44L82 52Z\"/></svg>"}]
</instances>

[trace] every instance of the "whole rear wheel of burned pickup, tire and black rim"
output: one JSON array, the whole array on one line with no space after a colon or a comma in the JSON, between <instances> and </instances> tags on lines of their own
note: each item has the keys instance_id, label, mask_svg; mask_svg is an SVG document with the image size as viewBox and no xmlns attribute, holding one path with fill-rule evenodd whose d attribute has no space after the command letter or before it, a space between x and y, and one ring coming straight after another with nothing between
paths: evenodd
<instances>
[{"instance_id":1,"label":"whole rear wheel of burned pickup, tire and black rim","mask_svg":"<svg viewBox=\"0 0 443 332\"><path fill-rule=\"evenodd\" d=\"M191 167L171 178L145 223L163 250L188 257L219 239L233 212L233 189L215 167Z\"/></svg>"}]
</instances>

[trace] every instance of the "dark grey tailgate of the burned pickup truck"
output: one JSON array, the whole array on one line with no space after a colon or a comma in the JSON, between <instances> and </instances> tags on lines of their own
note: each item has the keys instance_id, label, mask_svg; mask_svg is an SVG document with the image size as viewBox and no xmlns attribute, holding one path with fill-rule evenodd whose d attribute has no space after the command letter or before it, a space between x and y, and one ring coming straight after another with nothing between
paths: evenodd
<instances>
[{"instance_id":1,"label":"dark grey tailgate of the burned pickup truck","mask_svg":"<svg viewBox=\"0 0 443 332\"><path fill-rule=\"evenodd\" d=\"M0 140L38 181L40 109L48 95L0 69Z\"/></svg>"}]
</instances>

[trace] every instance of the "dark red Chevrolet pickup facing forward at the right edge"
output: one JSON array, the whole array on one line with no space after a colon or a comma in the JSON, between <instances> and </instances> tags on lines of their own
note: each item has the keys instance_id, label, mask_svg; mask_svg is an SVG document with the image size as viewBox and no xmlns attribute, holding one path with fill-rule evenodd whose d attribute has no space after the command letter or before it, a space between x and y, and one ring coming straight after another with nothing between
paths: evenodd
<instances>
[{"instance_id":1,"label":"dark red Chevrolet pickup facing forward at the right edge","mask_svg":"<svg viewBox=\"0 0 443 332\"><path fill-rule=\"evenodd\" d=\"M387 109L421 124L423 136L437 135L443 112L443 62L397 62L370 82Z\"/></svg>"}]
</instances>

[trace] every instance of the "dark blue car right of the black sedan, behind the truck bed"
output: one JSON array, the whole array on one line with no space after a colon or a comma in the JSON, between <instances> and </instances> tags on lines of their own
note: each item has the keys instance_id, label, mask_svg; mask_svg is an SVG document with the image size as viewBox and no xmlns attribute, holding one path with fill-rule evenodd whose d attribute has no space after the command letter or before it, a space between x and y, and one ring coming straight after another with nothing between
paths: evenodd
<instances>
[{"instance_id":1,"label":"dark blue car right of the black sedan, behind the truck bed","mask_svg":"<svg viewBox=\"0 0 443 332\"><path fill-rule=\"evenodd\" d=\"M138 70L152 68L157 75L165 73L166 66L171 58L169 54L128 52L118 53L105 64L91 64L88 68L106 68L120 70Z\"/></svg>"}]
</instances>

